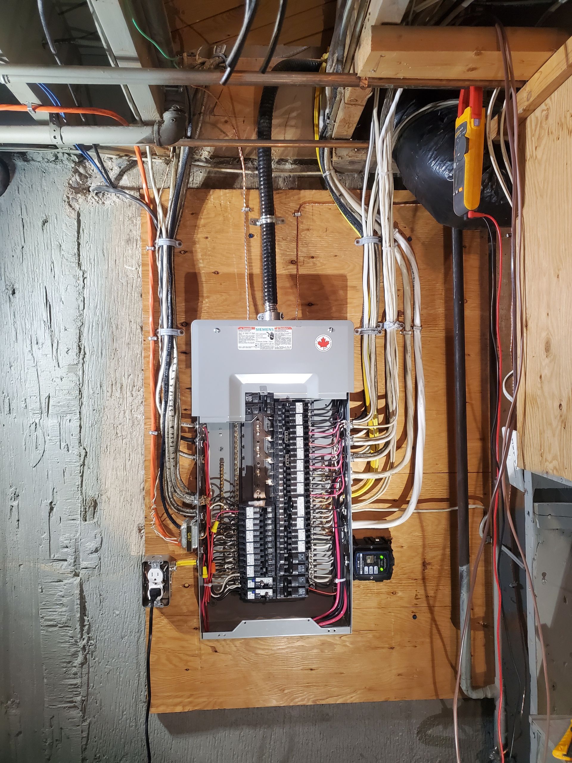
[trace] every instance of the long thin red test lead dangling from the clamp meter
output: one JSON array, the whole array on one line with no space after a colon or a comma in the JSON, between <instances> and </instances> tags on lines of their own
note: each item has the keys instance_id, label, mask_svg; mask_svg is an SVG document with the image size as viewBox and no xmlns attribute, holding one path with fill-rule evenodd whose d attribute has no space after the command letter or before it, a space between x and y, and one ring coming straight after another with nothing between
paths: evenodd
<instances>
[{"instance_id":1,"label":"long thin red test lead dangling from the clamp meter","mask_svg":"<svg viewBox=\"0 0 572 763\"><path fill-rule=\"evenodd\" d=\"M496 248L499 253L499 285L496 289L496 347L497 351L499 353L499 368L498 368L498 394L497 394L497 404L496 404L496 462L499 462L499 439L500 439L500 403L501 403L501 389L503 386L503 349L500 345L500 288L501 283L503 281L503 237L500 233L500 226L494 219L494 217L491 217L490 214L483 214L482 212L473 212L470 211L468 214L468 217L487 217L487 220L490 220L495 229L496 229ZM496 276L495 276L496 277ZM497 472L498 475L498 472ZM496 563L496 555L497 555L497 523L498 523L498 510L499 510L499 493L496 493L496 498L494 502L494 510L493 510L493 573L494 573L494 582L496 585L496 592L498 595L499 600L499 607L498 612L496 613L496 652L498 655L498 671L499 671L499 702L498 707L496 711L496 732L499 737L499 752L500 752L500 760L501 763L504 763L504 747L503 747L503 739L501 736L501 715L503 710L503 659L501 654L501 639L500 639L500 617L501 617L501 607L500 607L500 601L502 597L502 591L500 589L500 580L499 580L499 568ZM509 510L509 507L507 507L507 510ZM502 539L501 539L502 542Z\"/></svg>"}]
</instances>

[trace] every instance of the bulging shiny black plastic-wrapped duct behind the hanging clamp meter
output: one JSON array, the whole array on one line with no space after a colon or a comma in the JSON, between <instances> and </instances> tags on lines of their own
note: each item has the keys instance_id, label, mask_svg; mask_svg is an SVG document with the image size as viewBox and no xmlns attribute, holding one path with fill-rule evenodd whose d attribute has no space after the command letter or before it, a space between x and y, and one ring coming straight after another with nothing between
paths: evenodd
<instances>
[{"instance_id":1,"label":"bulging shiny black plastic-wrapped duct behind the hanging clamp meter","mask_svg":"<svg viewBox=\"0 0 572 763\"><path fill-rule=\"evenodd\" d=\"M480 227L482 222L479 219L458 217L453 210L453 152L457 107L435 106L423 114L412 116L405 124L408 114L413 114L422 105L412 101L400 118L403 128L399 130L395 141L394 160L403 185L438 223L451 228ZM477 211L492 215L501 226L510 224L510 205L496 179L486 147Z\"/></svg>"}]
</instances>

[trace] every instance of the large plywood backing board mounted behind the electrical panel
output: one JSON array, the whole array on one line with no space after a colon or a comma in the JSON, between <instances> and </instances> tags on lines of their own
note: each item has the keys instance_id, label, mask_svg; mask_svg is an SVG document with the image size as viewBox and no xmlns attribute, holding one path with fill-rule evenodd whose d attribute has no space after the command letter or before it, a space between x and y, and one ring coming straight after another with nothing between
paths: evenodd
<instances>
[{"instance_id":1,"label":"large plywood backing board mounted behind the electrical panel","mask_svg":"<svg viewBox=\"0 0 572 763\"><path fill-rule=\"evenodd\" d=\"M397 201L400 195L397 194ZM403 199L409 198L403 195ZM258 195L247 203L258 214ZM275 192L279 306L294 317L349 318L362 311L362 250L355 233L327 192ZM294 217L300 209L301 216ZM181 349L183 417L190 416L188 326L197 317L246 317L242 193L188 192L175 256L177 311L185 327ZM396 204L396 222L412 238L422 286L423 355L427 394L427 439L420 508L455 505L455 443L452 380L451 262L448 230L418 204ZM261 304L259 229L249 227L250 317ZM471 503L487 501L487 253L478 233L467 233L465 305L467 317L468 451ZM143 257L143 283L146 283ZM144 307L146 300L143 300ZM145 319L144 319L145 320ZM382 346L379 343L379 358ZM355 393L362 381L355 345ZM383 365L380 366L381 368ZM145 363L146 368L146 363ZM381 386L381 400L383 387ZM146 415L149 415L149 400ZM146 426L149 429L149 426ZM147 463L149 454L147 453ZM183 465L187 465L184 462ZM396 475L380 506L403 507L412 471ZM189 475L192 480L192 475ZM146 494L149 494L149 469ZM478 545L482 510L471 510L471 546ZM363 514L360 518L367 517ZM379 515L378 515L379 516ZM384 516L384 515L381 515ZM156 713L216 707L423 699L451 697L458 656L458 568L455 511L414 515L391 530L396 568L387 584L354 584L354 633L291 639L230 639L201 642L194 571L175 574L172 604L159 610L153 630L153 704ZM363 533L362 533L363 534ZM366 533L367 534L367 533ZM173 550L175 549L175 551ZM146 523L149 553L180 549L159 539ZM493 623L490 575L480 574L474 599L474 681L490 679Z\"/></svg>"}]
</instances>

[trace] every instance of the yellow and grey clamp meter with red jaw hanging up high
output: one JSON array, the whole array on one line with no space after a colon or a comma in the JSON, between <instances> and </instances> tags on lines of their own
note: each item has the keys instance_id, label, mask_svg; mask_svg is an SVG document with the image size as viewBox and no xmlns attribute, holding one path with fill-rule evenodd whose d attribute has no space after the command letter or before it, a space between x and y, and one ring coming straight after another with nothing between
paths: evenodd
<instances>
[{"instance_id":1,"label":"yellow and grey clamp meter with red jaw hanging up high","mask_svg":"<svg viewBox=\"0 0 572 763\"><path fill-rule=\"evenodd\" d=\"M480 203L483 178L485 114L483 89L461 90L455 122L453 209L463 217Z\"/></svg>"}]
</instances>

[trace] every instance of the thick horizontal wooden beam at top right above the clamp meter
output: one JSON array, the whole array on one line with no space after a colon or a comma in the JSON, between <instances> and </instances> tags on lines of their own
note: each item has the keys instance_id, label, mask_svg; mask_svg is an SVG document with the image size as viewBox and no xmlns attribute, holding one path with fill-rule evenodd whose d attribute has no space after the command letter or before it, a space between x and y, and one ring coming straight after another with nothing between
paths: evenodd
<instances>
[{"instance_id":1,"label":"thick horizontal wooden beam at top right above the clamp meter","mask_svg":"<svg viewBox=\"0 0 572 763\"><path fill-rule=\"evenodd\" d=\"M509 27L514 75L528 80L558 50L567 33L558 29ZM423 76L427 79L503 79L503 59L493 27L371 28L371 44L358 49L361 77Z\"/></svg>"}]
</instances>

